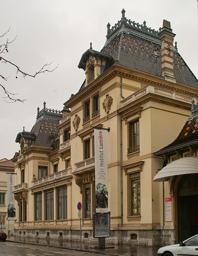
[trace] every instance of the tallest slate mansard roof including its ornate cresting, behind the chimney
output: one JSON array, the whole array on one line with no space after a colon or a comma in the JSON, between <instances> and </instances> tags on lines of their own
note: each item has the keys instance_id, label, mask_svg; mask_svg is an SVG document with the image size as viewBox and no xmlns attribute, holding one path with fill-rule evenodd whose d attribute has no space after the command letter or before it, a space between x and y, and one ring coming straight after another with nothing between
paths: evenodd
<instances>
[{"instance_id":1,"label":"tallest slate mansard roof including its ornate cresting, behind the chimney","mask_svg":"<svg viewBox=\"0 0 198 256\"><path fill-rule=\"evenodd\" d=\"M159 28L161 31L161 28ZM161 76L161 41L159 31L125 18L122 10L122 19L112 28L107 24L105 46L101 54L111 57L104 68L104 73L113 63L131 67L155 76ZM177 43L173 47L174 76L178 83L198 88L198 80L177 51ZM90 48L92 49L92 48ZM83 89L81 87L81 89Z\"/></svg>"}]
</instances>

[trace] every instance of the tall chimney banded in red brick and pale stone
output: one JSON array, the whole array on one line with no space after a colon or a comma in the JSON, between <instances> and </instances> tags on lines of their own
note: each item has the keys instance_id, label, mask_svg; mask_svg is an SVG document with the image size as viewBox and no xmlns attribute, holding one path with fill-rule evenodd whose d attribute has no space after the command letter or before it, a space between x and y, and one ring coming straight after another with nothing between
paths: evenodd
<instances>
[{"instance_id":1,"label":"tall chimney banded in red brick and pale stone","mask_svg":"<svg viewBox=\"0 0 198 256\"><path fill-rule=\"evenodd\" d=\"M165 80L176 83L173 70L173 39L170 21L163 20L163 27L160 29L159 37L161 41L161 76Z\"/></svg>"}]
</instances>

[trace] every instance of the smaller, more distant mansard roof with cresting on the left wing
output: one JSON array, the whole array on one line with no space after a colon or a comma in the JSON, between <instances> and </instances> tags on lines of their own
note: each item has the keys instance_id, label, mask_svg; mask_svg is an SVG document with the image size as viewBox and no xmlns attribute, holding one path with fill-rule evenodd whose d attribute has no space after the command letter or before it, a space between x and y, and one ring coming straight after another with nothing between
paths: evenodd
<instances>
[{"instance_id":1,"label":"smaller, more distant mansard roof with cresting on the left wing","mask_svg":"<svg viewBox=\"0 0 198 256\"><path fill-rule=\"evenodd\" d=\"M21 137L31 138L35 145L52 146L56 137L59 136L57 128L59 120L62 118L61 111L48 109L44 107L40 111L37 109L37 120L32 127L31 132L19 132L16 137L16 142L20 143Z\"/></svg>"}]
</instances>

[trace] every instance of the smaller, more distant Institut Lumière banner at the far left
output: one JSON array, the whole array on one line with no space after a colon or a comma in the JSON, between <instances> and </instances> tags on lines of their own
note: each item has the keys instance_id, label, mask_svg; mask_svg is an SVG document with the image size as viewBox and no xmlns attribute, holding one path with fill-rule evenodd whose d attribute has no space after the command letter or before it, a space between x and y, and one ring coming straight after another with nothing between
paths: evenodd
<instances>
[{"instance_id":1,"label":"smaller, more distant Institut Lumi\u00e8re banner at the far left","mask_svg":"<svg viewBox=\"0 0 198 256\"><path fill-rule=\"evenodd\" d=\"M15 174L7 174L7 220L16 219L15 197L13 194L15 185Z\"/></svg>"}]
</instances>

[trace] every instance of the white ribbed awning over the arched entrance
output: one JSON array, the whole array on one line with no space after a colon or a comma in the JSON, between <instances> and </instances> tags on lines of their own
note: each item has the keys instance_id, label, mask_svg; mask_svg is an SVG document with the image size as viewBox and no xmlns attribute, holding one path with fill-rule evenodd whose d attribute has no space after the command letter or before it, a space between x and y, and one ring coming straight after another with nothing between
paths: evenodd
<instances>
[{"instance_id":1,"label":"white ribbed awning over the arched entrance","mask_svg":"<svg viewBox=\"0 0 198 256\"><path fill-rule=\"evenodd\" d=\"M198 158L184 157L162 168L153 181L168 181L170 176L198 173Z\"/></svg>"}]
</instances>

